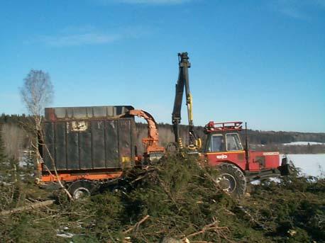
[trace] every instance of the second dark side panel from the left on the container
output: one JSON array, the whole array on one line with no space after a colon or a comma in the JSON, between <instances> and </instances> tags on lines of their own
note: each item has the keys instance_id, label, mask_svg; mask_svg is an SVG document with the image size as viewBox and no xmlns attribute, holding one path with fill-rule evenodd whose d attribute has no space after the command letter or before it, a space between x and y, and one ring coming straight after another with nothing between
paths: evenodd
<instances>
[{"instance_id":1,"label":"second dark side panel from the left on the container","mask_svg":"<svg viewBox=\"0 0 325 243\"><path fill-rule=\"evenodd\" d=\"M55 166L57 169L67 169L66 164L66 140L65 140L65 123L54 123L55 137Z\"/></svg>"}]
</instances>

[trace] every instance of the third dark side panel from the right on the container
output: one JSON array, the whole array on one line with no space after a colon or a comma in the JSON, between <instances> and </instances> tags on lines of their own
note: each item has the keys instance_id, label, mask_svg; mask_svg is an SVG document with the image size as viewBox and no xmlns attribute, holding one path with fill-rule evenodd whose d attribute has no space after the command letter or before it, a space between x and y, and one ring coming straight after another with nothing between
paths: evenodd
<instances>
[{"instance_id":1,"label":"third dark side panel from the right on the container","mask_svg":"<svg viewBox=\"0 0 325 243\"><path fill-rule=\"evenodd\" d=\"M105 168L104 120L92 121L92 161L94 169Z\"/></svg>"}]
</instances>

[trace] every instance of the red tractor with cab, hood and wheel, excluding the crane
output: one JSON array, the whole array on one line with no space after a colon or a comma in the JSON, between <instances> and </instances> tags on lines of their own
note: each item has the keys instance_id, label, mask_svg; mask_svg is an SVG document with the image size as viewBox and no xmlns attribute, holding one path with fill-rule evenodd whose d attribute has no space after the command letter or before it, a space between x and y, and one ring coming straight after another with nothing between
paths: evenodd
<instances>
[{"instance_id":1,"label":"red tractor with cab, hood and wheel, excluding the crane","mask_svg":"<svg viewBox=\"0 0 325 243\"><path fill-rule=\"evenodd\" d=\"M218 166L216 179L224 190L241 196L246 183L289 174L287 158L280 162L279 152L257 152L241 142L242 122L209 122L205 128L204 157L210 166ZM247 140L246 140L247 141Z\"/></svg>"}]
</instances>

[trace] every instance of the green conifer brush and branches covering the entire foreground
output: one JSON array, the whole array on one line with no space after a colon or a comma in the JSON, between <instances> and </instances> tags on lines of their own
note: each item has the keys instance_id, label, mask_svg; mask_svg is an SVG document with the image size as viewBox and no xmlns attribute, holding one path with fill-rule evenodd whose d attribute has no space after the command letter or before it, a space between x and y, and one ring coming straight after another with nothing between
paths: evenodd
<instances>
[{"instance_id":1,"label":"green conifer brush and branches covering the entire foreground","mask_svg":"<svg viewBox=\"0 0 325 243\"><path fill-rule=\"evenodd\" d=\"M214 180L217 176L218 171L199 164L195 158L169 155L145 171L127 171L118 185L90 198L70 201L61 192L55 203L32 209L26 208L26 201L46 200L44 191L20 181L21 186L16 186L13 193L0 193L1 202L8 198L14 202L12 207L6 204L6 211L0 215L0 239L125 243L324 241L324 179L295 173L277 182L251 185L250 195L238 201L219 189Z\"/></svg>"}]
</instances>

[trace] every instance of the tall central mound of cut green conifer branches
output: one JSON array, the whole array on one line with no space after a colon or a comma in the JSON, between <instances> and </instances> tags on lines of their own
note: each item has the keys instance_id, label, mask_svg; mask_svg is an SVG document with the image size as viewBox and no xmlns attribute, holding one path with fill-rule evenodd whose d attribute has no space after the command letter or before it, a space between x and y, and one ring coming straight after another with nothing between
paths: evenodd
<instances>
[{"instance_id":1,"label":"tall central mound of cut green conifer branches","mask_svg":"<svg viewBox=\"0 0 325 243\"><path fill-rule=\"evenodd\" d=\"M217 171L195 159L177 156L148 166L145 173L129 171L127 188L121 186L80 203L96 215L89 233L99 232L97 236L109 241L171 239L167 237L179 242L231 241L230 229L219 217L233 217L236 203L219 190L216 175Z\"/></svg>"}]
</instances>

